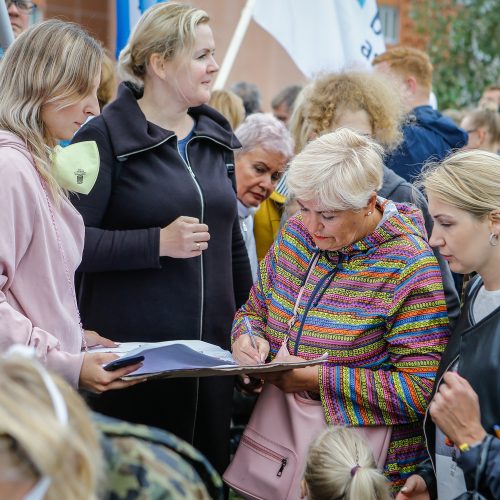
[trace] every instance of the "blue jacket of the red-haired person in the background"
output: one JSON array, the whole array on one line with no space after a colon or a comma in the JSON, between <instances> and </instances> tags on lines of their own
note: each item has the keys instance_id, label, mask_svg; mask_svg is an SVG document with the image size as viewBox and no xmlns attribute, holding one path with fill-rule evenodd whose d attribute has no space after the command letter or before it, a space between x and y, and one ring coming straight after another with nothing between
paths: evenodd
<instances>
[{"instance_id":1,"label":"blue jacket of the red-haired person in the background","mask_svg":"<svg viewBox=\"0 0 500 500\"><path fill-rule=\"evenodd\" d=\"M403 142L385 159L385 164L412 182L426 161L441 161L452 150L467 144L467 132L431 106L413 109L403 126Z\"/></svg>"}]
</instances>

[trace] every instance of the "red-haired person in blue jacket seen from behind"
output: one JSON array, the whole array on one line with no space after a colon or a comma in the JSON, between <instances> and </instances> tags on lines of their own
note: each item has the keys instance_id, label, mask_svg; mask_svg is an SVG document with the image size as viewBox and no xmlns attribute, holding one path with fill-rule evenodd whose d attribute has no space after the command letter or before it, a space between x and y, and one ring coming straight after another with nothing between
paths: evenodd
<instances>
[{"instance_id":1,"label":"red-haired person in blue jacket seen from behind","mask_svg":"<svg viewBox=\"0 0 500 500\"><path fill-rule=\"evenodd\" d=\"M400 84L408 119L403 142L386 157L386 165L412 182L427 160L441 161L465 146L467 133L430 105L433 67L425 52L396 47L375 57L373 65Z\"/></svg>"}]
</instances>

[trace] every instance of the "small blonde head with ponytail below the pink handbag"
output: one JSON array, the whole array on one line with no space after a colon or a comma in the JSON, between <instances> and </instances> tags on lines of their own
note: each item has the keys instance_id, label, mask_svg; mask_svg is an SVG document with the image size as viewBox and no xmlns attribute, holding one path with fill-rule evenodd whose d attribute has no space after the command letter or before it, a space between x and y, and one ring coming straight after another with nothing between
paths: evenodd
<instances>
[{"instance_id":1,"label":"small blonde head with ponytail below the pink handbag","mask_svg":"<svg viewBox=\"0 0 500 500\"><path fill-rule=\"evenodd\" d=\"M302 494L309 500L389 500L389 483L356 430L330 427L312 443Z\"/></svg>"}]
</instances>

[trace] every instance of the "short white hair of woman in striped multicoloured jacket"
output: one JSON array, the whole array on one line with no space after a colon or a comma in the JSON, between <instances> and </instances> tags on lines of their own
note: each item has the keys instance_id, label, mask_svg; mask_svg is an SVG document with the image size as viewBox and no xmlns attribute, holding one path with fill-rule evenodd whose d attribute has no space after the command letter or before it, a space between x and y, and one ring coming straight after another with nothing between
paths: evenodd
<instances>
[{"instance_id":1,"label":"short white hair of woman in striped multicoloured jacket","mask_svg":"<svg viewBox=\"0 0 500 500\"><path fill-rule=\"evenodd\" d=\"M382 186L383 148L342 128L310 142L290 164L287 185L299 200L325 210L358 210Z\"/></svg>"}]
</instances>

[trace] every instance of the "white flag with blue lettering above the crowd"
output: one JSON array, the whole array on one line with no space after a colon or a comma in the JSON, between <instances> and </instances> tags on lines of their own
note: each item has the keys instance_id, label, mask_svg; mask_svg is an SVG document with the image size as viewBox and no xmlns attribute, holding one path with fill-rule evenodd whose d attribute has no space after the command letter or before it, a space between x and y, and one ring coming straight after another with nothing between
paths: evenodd
<instances>
[{"instance_id":1,"label":"white flag with blue lettering above the crowd","mask_svg":"<svg viewBox=\"0 0 500 500\"><path fill-rule=\"evenodd\" d=\"M370 67L385 51L376 0L256 0L253 18L308 78Z\"/></svg>"}]
</instances>

